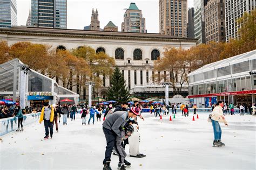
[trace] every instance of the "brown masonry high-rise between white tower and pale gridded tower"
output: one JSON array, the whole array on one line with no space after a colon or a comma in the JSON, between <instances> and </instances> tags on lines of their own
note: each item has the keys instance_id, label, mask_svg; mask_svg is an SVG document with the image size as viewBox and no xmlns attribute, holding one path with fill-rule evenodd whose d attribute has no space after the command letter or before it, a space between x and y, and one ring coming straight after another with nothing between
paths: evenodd
<instances>
[{"instance_id":1,"label":"brown masonry high-rise between white tower and pale gridded tower","mask_svg":"<svg viewBox=\"0 0 256 170\"><path fill-rule=\"evenodd\" d=\"M225 42L224 0L210 0L205 6L206 44L211 41Z\"/></svg>"}]
</instances>

